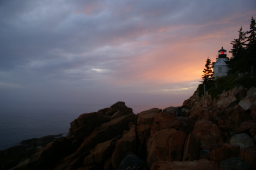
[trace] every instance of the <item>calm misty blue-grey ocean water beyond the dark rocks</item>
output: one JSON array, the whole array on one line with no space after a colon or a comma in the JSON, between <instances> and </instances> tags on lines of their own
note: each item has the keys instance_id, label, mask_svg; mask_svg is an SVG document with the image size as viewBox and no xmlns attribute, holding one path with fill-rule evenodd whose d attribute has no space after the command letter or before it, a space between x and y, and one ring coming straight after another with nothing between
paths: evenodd
<instances>
[{"instance_id":1,"label":"calm misty blue-grey ocean water beyond the dark rocks","mask_svg":"<svg viewBox=\"0 0 256 170\"><path fill-rule=\"evenodd\" d=\"M82 113L97 112L110 107L102 105L15 105L0 111L0 150L19 145L26 139L46 135L67 134L70 122ZM131 106L129 106L131 107ZM134 113L148 108L131 107Z\"/></svg>"}]
</instances>

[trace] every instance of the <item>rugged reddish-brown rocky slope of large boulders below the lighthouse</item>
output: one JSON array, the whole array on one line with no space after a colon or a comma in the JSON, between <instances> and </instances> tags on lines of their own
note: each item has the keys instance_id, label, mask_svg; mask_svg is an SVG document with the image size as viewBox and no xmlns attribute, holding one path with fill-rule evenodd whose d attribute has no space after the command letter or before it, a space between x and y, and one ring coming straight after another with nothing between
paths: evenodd
<instances>
[{"instance_id":1,"label":"rugged reddish-brown rocky slope of large boulders below the lighthouse","mask_svg":"<svg viewBox=\"0 0 256 170\"><path fill-rule=\"evenodd\" d=\"M117 102L71 122L13 169L256 169L256 88L134 114ZM3 167L4 168L4 167Z\"/></svg>"}]
</instances>

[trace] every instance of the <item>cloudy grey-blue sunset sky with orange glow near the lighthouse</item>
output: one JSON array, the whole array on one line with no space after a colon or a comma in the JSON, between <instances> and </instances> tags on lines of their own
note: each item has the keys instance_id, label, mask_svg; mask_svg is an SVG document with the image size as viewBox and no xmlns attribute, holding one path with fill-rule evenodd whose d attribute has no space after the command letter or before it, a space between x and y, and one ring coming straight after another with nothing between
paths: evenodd
<instances>
[{"instance_id":1,"label":"cloudy grey-blue sunset sky with orange glow near the lighthouse","mask_svg":"<svg viewBox=\"0 0 256 170\"><path fill-rule=\"evenodd\" d=\"M255 9L255 0L1 0L1 110L182 105L207 57L229 51Z\"/></svg>"}]
</instances>

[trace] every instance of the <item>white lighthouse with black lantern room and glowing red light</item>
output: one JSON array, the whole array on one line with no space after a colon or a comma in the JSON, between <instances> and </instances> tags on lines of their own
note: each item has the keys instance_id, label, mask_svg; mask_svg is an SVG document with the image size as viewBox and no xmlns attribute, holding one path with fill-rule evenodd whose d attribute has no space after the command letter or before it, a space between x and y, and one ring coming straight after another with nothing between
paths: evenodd
<instances>
[{"instance_id":1,"label":"white lighthouse with black lantern room and glowing red light","mask_svg":"<svg viewBox=\"0 0 256 170\"><path fill-rule=\"evenodd\" d=\"M213 71L214 71L214 78L216 79L218 76L226 76L228 75L228 65L226 61L229 61L229 58L226 57L226 50L221 47L218 50L218 56L216 58L216 62L212 63Z\"/></svg>"}]
</instances>

